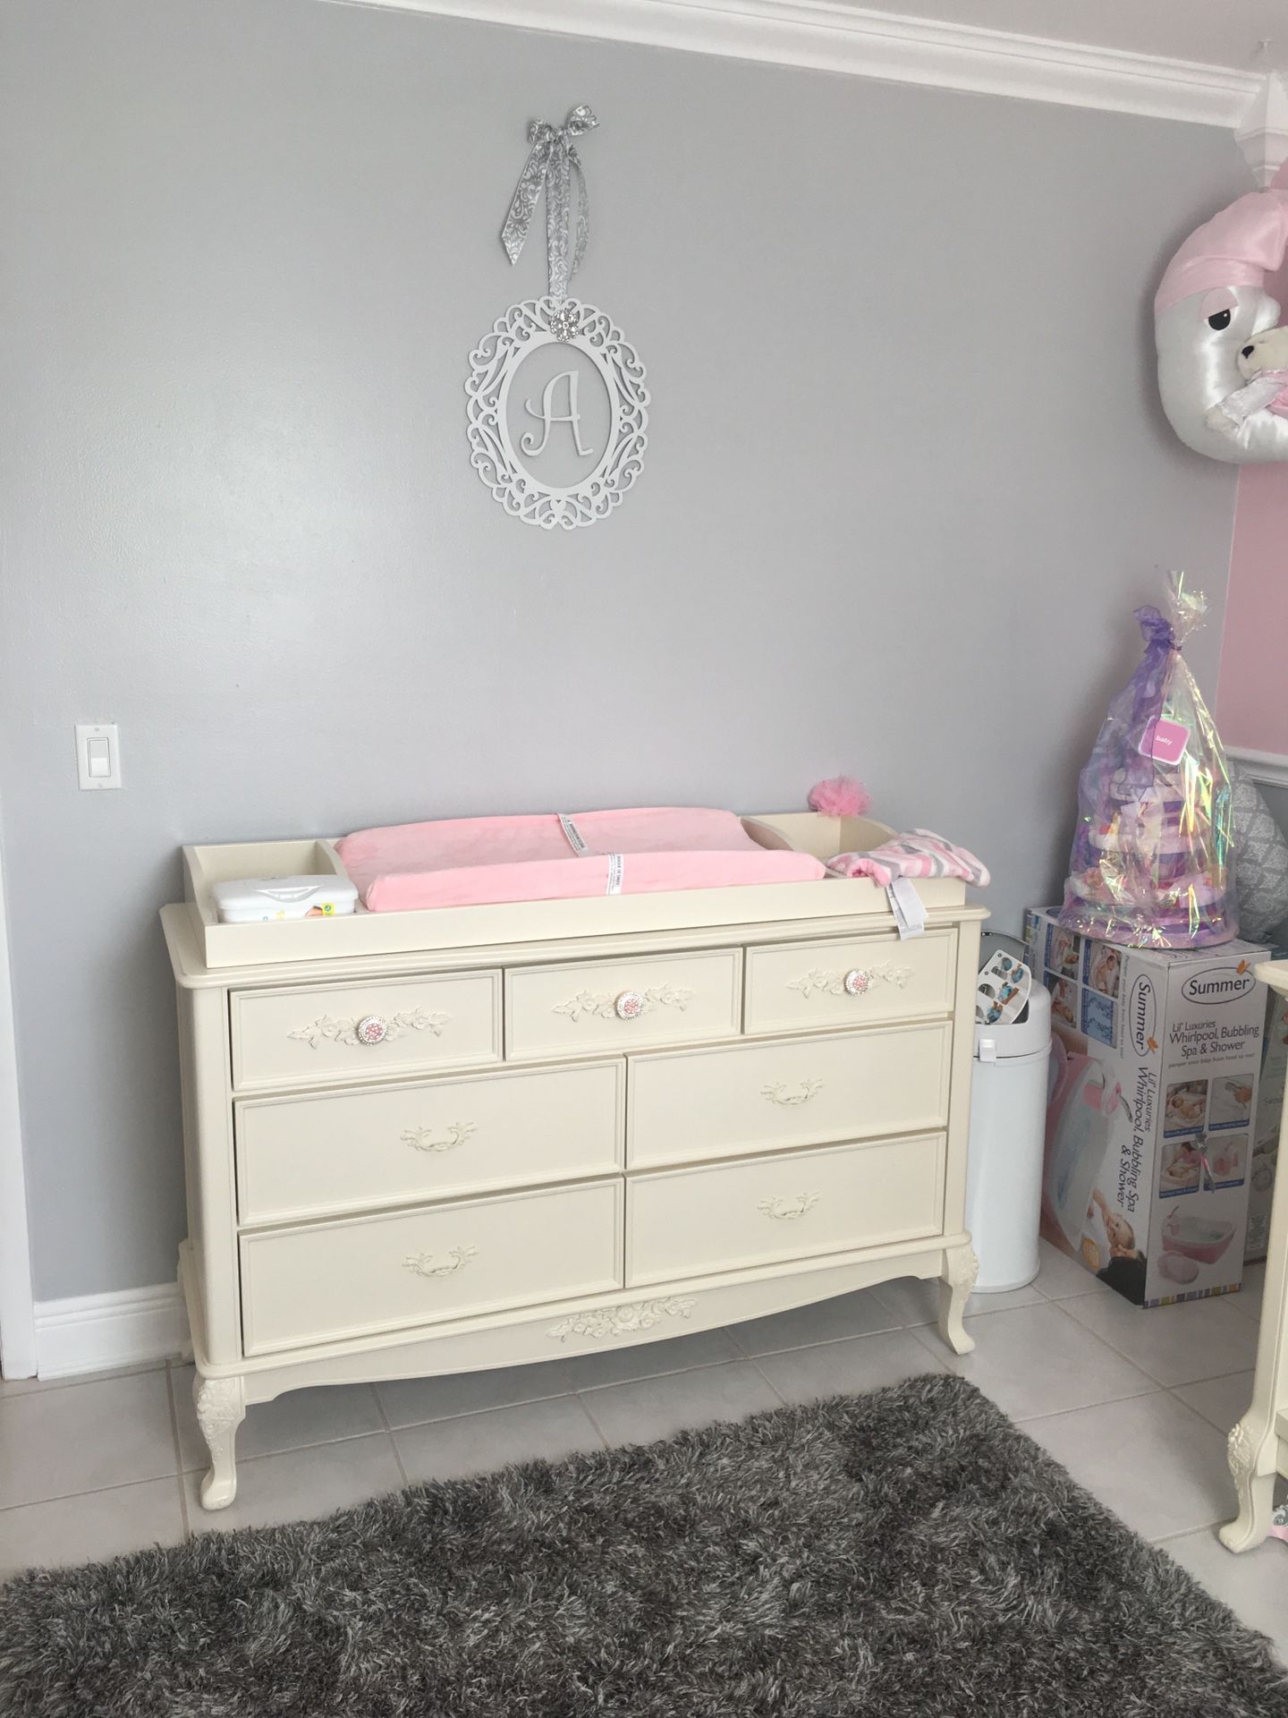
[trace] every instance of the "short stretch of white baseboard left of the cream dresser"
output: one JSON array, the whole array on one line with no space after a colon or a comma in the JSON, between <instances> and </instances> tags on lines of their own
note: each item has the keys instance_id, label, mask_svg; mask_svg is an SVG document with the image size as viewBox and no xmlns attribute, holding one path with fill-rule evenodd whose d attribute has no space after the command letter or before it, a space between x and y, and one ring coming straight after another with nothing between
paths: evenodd
<instances>
[{"instance_id":1,"label":"short stretch of white baseboard left of the cream dresser","mask_svg":"<svg viewBox=\"0 0 1288 1718\"><path fill-rule=\"evenodd\" d=\"M185 1350L187 1313L179 1283L36 1302L39 1378L168 1361Z\"/></svg>"}]
</instances>

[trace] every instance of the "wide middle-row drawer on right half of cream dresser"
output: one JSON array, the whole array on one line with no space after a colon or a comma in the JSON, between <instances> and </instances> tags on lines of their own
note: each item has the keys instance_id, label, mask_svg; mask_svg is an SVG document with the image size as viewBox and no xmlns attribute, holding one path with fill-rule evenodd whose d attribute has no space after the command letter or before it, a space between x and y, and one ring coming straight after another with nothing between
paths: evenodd
<instances>
[{"instance_id":1,"label":"wide middle-row drawer on right half of cream dresser","mask_svg":"<svg viewBox=\"0 0 1288 1718\"><path fill-rule=\"evenodd\" d=\"M632 1057L627 1165L943 1127L951 1036L945 1020Z\"/></svg>"}]
</instances>

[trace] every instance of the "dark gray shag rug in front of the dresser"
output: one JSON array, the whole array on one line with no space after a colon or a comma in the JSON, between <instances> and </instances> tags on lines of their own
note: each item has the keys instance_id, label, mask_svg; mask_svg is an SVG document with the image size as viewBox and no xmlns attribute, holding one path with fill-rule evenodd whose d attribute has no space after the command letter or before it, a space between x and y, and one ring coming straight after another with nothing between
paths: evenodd
<instances>
[{"instance_id":1,"label":"dark gray shag rug in front of the dresser","mask_svg":"<svg viewBox=\"0 0 1288 1718\"><path fill-rule=\"evenodd\" d=\"M1288 1678L934 1376L22 1575L0 1711L1271 1718Z\"/></svg>"}]
</instances>

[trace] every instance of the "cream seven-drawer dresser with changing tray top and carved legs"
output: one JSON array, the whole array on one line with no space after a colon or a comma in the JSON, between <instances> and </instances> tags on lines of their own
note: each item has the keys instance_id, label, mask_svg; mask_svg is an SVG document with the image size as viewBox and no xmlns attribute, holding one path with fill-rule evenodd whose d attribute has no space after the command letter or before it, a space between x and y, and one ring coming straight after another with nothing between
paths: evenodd
<instances>
[{"instance_id":1,"label":"cream seven-drawer dresser with changing tray top and carved legs","mask_svg":"<svg viewBox=\"0 0 1288 1718\"><path fill-rule=\"evenodd\" d=\"M867 819L749 819L871 847ZM206 1508L246 1407L515 1366L941 1276L963 1230L981 907L867 880L218 924L222 878L328 842L185 849L180 1247Z\"/></svg>"}]
</instances>

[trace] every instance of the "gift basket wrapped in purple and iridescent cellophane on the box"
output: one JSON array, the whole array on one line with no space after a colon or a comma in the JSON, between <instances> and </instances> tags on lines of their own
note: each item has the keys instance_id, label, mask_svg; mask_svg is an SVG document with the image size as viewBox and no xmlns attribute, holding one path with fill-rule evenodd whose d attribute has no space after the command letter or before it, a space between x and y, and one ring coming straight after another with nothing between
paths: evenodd
<instances>
[{"instance_id":1,"label":"gift basket wrapped in purple and iridescent cellophane on the box","mask_svg":"<svg viewBox=\"0 0 1288 1718\"><path fill-rule=\"evenodd\" d=\"M1238 931L1230 775L1182 656L1207 603L1173 572L1168 608L1135 612L1145 655L1078 777L1060 923L1137 948L1202 948Z\"/></svg>"}]
</instances>

